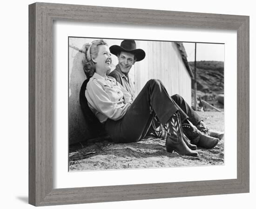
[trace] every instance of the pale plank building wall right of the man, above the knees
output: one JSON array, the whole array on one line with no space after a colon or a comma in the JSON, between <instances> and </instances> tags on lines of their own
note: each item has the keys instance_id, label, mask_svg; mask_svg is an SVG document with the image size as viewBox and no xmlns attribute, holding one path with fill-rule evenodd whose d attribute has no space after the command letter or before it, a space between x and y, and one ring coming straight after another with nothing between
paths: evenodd
<instances>
[{"instance_id":1,"label":"pale plank building wall right of the man, above the knees","mask_svg":"<svg viewBox=\"0 0 256 209\"><path fill-rule=\"evenodd\" d=\"M150 78L160 79L169 95L180 94L191 104L191 77L175 42L137 41L146 57L135 63L136 94Z\"/></svg>"}]
</instances>

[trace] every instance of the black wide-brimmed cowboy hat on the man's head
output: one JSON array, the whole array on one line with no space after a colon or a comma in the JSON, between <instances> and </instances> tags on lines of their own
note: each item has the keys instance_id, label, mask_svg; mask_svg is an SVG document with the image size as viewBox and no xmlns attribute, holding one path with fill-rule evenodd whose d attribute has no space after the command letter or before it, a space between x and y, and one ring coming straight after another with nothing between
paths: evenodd
<instances>
[{"instance_id":1,"label":"black wide-brimmed cowboy hat on the man's head","mask_svg":"<svg viewBox=\"0 0 256 209\"><path fill-rule=\"evenodd\" d=\"M142 49L136 49L135 40L123 40L121 45L113 45L109 47L109 50L112 54L119 54L120 52L129 52L135 55L136 61L141 61L145 58L146 53Z\"/></svg>"}]
</instances>

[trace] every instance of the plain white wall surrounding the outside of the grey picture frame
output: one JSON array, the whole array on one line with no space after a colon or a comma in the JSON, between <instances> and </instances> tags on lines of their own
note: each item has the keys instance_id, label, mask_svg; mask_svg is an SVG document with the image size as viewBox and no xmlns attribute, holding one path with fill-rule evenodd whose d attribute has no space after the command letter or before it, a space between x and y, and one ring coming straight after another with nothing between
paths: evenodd
<instances>
[{"instance_id":1,"label":"plain white wall surrounding the outside of the grey picture frame","mask_svg":"<svg viewBox=\"0 0 256 209\"><path fill-rule=\"evenodd\" d=\"M47 0L53 3L87 4L109 7L134 7L201 13L224 13L250 15L250 85L251 106L256 106L256 13L251 0L214 2L205 0L181 1L104 1L104 0ZM28 4L33 0L3 1L1 3L1 102L0 102L0 139L1 139L1 208L34 208L27 204L28 194ZM232 6L231 6L232 5ZM14 41L15 40L15 41ZM15 96L13 96L15 94ZM255 108L250 110L251 118L256 118ZM129 202L107 202L81 205L44 207L49 209L130 209L130 208L189 208L189 209L241 209L255 207L255 119L251 120L250 133L250 193L219 196L197 196L140 200ZM170 174L171 175L171 174ZM198 174L200 175L200 174Z\"/></svg>"}]
</instances>

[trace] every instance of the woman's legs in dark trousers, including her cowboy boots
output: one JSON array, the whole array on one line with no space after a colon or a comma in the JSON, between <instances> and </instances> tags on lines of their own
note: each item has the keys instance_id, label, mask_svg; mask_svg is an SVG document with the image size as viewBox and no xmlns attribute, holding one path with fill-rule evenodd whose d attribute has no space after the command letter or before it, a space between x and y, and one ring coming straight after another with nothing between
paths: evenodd
<instances>
[{"instance_id":1,"label":"woman's legs in dark trousers, including her cowboy boots","mask_svg":"<svg viewBox=\"0 0 256 209\"><path fill-rule=\"evenodd\" d=\"M162 82L151 79L143 87L125 116L118 121L108 119L105 129L115 143L137 142L141 139L142 134L148 131L154 114L156 114L163 126L168 125L167 146L171 147L169 150L175 150L185 155L197 155L196 152L191 152L183 141L182 122L180 116L176 114L179 111L176 105L169 97ZM194 133L195 131L197 132ZM188 136L196 138L196 143L215 144L218 140L202 135L200 131L194 129L186 128L186 133Z\"/></svg>"}]
</instances>

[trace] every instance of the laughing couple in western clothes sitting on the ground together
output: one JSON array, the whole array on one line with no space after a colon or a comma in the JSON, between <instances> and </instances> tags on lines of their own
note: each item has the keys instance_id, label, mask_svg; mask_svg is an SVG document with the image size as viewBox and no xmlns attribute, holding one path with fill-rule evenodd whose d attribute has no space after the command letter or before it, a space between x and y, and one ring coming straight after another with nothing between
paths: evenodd
<instances>
[{"instance_id":1,"label":"laughing couple in western clothes sitting on the ground together","mask_svg":"<svg viewBox=\"0 0 256 209\"><path fill-rule=\"evenodd\" d=\"M118 64L107 75L112 54ZM136 48L135 40L110 47L102 39L86 44L83 68L89 81L82 93L108 135L115 143L138 142L161 126L167 152L197 156L197 146L215 147L224 134L209 129L181 96L170 97L160 80L150 79L135 97L129 71L145 55ZM153 127L154 121L158 125Z\"/></svg>"}]
</instances>

